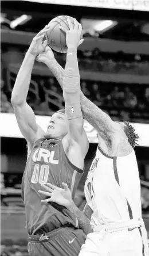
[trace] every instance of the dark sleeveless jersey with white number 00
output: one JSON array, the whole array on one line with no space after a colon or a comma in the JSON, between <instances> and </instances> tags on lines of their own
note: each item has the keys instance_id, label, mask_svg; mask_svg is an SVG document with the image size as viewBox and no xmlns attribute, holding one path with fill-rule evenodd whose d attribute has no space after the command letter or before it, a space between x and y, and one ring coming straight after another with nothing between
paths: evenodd
<instances>
[{"instance_id":1,"label":"dark sleeveless jersey with white number 00","mask_svg":"<svg viewBox=\"0 0 149 256\"><path fill-rule=\"evenodd\" d=\"M50 232L62 226L79 228L76 216L65 207L54 202L44 203L46 197L38 193L41 184L50 182L60 188L68 184L75 197L83 170L74 166L66 156L62 140L40 139L34 143L22 178L22 199L26 211L28 234Z\"/></svg>"}]
</instances>

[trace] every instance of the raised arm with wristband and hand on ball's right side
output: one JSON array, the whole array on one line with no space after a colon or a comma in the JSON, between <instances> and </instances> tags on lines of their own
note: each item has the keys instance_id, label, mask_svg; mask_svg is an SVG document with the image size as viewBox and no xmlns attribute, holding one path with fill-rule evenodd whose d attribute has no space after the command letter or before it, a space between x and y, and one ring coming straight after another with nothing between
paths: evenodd
<instances>
[{"instance_id":1,"label":"raised arm with wristband and hand on ball's right side","mask_svg":"<svg viewBox=\"0 0 149 256\"><path fill-rule=\"evenodd\" d=\"M68 46L63 77L63 96L69 127L69 148L72 148L72 146L79 146L78 149L81 150L81 153L85 157L88 151L88 139L83 129L84 121L80 105L80 74L77 62L77 47L83 40L80 40L81 24L75 19L74 23L75 25L73 28L72 23L68 19L70 30L61 27L61 30L66 33L66 44Z\"/></svg>"}]
</instances>

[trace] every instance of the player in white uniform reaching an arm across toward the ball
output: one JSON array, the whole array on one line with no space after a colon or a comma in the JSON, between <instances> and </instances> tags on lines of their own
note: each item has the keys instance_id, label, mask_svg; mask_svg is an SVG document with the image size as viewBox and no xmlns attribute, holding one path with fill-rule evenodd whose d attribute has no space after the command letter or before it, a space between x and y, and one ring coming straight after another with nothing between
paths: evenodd
<instances>
[{"instance_id":1,"label":"player in white uniform reaching an arm across toward the ball","mask_svg":"<svg viewBox=\"0 0 149 256\"><path fill-rule=\"evenodd\" d=\"M66 32L66 30L63 28ZM62 87L64 71L51 49L38 57L46 63ZM87 235L79 256L147 256L147 233L142 219L140 181L134 147L139 137L127 122L114 122L81 93L84 118L97 130L99 144L85 182L85 197L93 214L93 232ZM76 216L83 213L74 204L66 184L42 187L50 196L44 202L65 205Z\"/></svg>"}]
</instances>

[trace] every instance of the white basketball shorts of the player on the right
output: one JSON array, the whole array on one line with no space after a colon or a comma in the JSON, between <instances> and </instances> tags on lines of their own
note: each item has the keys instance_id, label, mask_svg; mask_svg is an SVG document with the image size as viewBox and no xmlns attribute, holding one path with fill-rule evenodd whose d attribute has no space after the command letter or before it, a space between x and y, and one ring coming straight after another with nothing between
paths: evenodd
<instances>
[{"instance_id":1,"label":"white basketball shorts of the player on the right","mask_svg":"<svg viewBox=\"0 0 149 256\"><path fill-rule=\"evenodd\" d=\"M148 256L145 228L87 235L79 256Z\"/></svg>"}]
</instances>

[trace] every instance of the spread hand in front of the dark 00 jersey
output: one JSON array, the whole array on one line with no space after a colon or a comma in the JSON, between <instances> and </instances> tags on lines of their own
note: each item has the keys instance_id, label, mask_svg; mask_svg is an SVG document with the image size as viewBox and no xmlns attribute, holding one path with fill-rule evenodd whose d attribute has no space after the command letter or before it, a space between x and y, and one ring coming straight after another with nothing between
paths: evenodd
<instances>
[{"instance_id":1,"label":"spread hand in front of the dark 00 jersey","mask_svg":"<svg viewBox=\"0 0 149 256\"><path fill-rule=\"evenodd\" d=\"M72 194L68 188L68 185L64 182L62 182L64 189L58 188L50 183L46 183L46 185L41 184L41 186L46 191L38 190L38 192L50 197L48 199L41 200L42 202L56 202L57 204L63 205L66 208L72 204Z\"/></svg>"}]
</instances>

